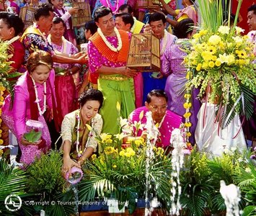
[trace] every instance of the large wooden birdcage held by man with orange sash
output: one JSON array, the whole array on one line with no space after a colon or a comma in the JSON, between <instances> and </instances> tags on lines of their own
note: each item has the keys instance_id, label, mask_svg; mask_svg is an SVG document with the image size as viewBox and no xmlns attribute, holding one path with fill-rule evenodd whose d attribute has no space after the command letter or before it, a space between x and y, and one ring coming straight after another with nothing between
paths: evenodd
<instances>
[{"instance_id":1,"label":"large wooden birdcage held by man with orange sash","mask_svg":"<svg viewBox=\"0 0 256 216\"><path fill-rule=\"evenodd\" d=\"M160 41L151 33L134 34L127 67L138 71L160 71Z\"/></svg>"}]
</instances>

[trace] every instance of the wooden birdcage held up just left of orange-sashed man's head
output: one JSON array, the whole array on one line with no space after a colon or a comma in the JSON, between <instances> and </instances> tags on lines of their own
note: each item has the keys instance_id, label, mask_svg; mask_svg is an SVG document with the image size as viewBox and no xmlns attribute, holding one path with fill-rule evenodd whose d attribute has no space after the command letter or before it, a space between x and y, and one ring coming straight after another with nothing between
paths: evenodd
<instances>
[{"instance_id":1,"label":"wooden birdcage held up just left of orange-sashed man's head","mask_svg":"<svg viewBox=\"0 0 256 216\"><path fill-rule=\"evenodd\" d=\"M86 22L92 20L89 0L72 1L71 4L72 7L79 8L79 11L76 14L72 15L73 27L84 26Z\"/></svg>"}]
</instances>

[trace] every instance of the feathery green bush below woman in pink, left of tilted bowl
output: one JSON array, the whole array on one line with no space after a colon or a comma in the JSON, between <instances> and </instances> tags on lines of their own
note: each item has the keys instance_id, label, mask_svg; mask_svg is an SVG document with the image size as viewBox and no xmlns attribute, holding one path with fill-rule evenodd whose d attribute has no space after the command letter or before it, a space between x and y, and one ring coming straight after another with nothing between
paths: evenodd
<instances>
[{"instance_id":1,"label":"feathery green bush below woman in pink, left of tilted bowl","mask_svg":"<svg viewBox=\"0 0 256 216\"><path fill-rule=\"evenodd\" d=\"M45 210L46 215L74 215L74 204L61 204L74 201L74 192L65 190L66 180L61 175L62 155L56 150L40 156L27 168L27 186L29 192L37 194L40 202L48 202L43 206L33 206L37 210ZM54 205L50 204L55 202Z\"/></svg>"}]
</instances>

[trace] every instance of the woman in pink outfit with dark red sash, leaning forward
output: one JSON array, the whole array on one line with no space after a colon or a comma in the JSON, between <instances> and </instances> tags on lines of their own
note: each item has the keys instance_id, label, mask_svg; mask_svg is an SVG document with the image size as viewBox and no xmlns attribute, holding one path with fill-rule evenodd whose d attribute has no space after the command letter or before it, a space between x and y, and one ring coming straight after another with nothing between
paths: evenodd
<instances>
[{"instance_id":1,"label":"woman in pink outfit with dark red sash, leaning forward","mask_svg":"<svg viewBox=\"0 0 256 216\"><path fill-rule=\"evenodd\" d=\"M50 149L50 133L46 121L53 119L55 107L53 60L49 53L37 51L27 60L27 71L18 79L14 87L14 98L4 100L2 119L17 137L22 151L20 161L25 165L35 157ZM26 121L43 123L42 138L37 143L29 143L24 138Z\"/></svg>"}]
</instances>

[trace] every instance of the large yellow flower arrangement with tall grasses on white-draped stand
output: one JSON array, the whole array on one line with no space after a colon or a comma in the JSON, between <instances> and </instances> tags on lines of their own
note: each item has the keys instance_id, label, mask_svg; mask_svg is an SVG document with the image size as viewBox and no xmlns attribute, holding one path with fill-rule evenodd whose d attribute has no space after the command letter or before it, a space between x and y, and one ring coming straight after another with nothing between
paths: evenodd
<instances>
[{"instance_id":1,"label":"large yellow flower arrangement with tall grasses on white-draped stand","mask_svg":"<svg viewBox=\"0 0 256 216\"><path fill-rule=\"evenodd\" d=\"M226 127L234 114L242 113L247 118L252 114L253 94L256 94L254 46L246 35L241 34L244 30L235 26L237 19L234 26L230 25L229 19L227 25L223 25L221 1L198 0L198 4L205 25L193 35L187 49L185 88L187 92L194 87L200 88L198 96L217 105L221 111L221 127ZM239 0L239 6L241 4L242 0ZM191 104L187 96L185 99L185 126L189 127Z\"/></svg>"}]
</instances>

